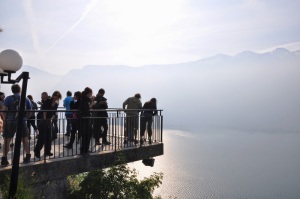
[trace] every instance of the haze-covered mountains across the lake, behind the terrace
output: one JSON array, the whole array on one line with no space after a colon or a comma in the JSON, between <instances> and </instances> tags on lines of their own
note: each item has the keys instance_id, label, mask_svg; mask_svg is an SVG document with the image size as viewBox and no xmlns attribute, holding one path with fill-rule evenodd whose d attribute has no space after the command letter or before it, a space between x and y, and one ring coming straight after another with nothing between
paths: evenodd
<instances>
[{"instance_id":1,"label":"haze-covered mountains across the lake, behind the terrace","mask_svg":"<svg viewBox=\"0 0 300 199\"><path fill-rule=\"evenodd\" d=\"M85 66L65 76L25 66L28 93L106 90L109 107L121 108L136 92L145 102L158 99L166 128L197 131L205 127L300 132L299 52L276 49L258 54L216 55L189 63ZM24 70L25 70L24 69ZM2 87L2 85L1 85Z\"/></svg>"}]
</instances>

